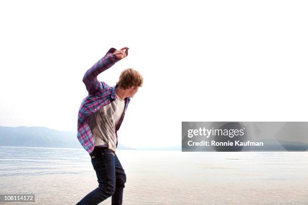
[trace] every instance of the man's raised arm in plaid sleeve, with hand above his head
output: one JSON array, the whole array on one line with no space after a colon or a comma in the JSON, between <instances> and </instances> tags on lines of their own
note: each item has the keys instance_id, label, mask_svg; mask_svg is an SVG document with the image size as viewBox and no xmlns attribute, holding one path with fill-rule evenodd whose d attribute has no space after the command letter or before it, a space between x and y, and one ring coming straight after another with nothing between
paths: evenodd
<instances>
[{"instance_id":1,"label":"man's raised arm in plaid sleeve, with hand above his head","mask_svg":"<svg viewBox=\"0 0 308 205\"><path fill-rule=\"evenodd\" d=\"M124 47L122 49L126 50L128 48ZM89 94L93 94L102 88L102 84L98 81L97 76L122 58L126 57L125 52L122 49L116 50L115 48L110 48L103 58L87 70L83 77L83 82L85 83Z\"/></svg>"}]
</instances>

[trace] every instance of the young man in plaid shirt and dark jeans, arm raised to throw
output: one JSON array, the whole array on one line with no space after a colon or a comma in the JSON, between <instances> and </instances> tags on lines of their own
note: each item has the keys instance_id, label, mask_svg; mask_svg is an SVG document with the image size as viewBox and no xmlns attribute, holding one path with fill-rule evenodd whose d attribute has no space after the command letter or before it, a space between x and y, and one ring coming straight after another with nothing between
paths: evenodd
<instances>
[{"instance_id":1,"label":"young man in plaid shirt and dark jeans, arm raised to throw","mask_svg":"<svg viewBox=\"0 0 308 205\"><path fill-rule=\"evenodd\" d=\"M118 135L130 98L142 86L143 77L132 68L121 72L116 85L98 81L97 75L127 56L129 48L109 49L84 75L89 95L78 114L77 138L91 156L99 185L77 204L98 204L112 196L112 204L122 204L126 174L115 154ZM126 51L126 52L125 52Z\"/></svg>"}]
</instances>

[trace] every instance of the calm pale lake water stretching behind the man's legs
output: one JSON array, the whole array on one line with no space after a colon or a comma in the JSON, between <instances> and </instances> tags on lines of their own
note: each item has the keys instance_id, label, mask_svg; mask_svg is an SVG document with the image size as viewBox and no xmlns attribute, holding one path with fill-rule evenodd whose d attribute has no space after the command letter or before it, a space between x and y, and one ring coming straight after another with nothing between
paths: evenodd
<instances>
[{"instance_id":1,"label":"calm pale lake water stretching behind the man's legs","mask_svg":"<svg viewBox=\"0 0 308 205\"><path fill-rule=\"evenodd\" d=\"M308 152L116 154L127 175L123 205L308 204ZM97 185L84 149L0 147L2 194L34 193L35 204L76 204ZM111 197L100 204L111 204Z\"/></svg>"}]
</instances>

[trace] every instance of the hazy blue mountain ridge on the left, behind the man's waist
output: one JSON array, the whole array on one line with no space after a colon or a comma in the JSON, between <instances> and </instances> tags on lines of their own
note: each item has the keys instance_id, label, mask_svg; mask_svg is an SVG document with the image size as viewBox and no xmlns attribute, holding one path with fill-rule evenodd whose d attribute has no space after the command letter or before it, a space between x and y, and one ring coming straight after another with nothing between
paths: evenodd
<instances>
[{"instance_id":1,"label":"hazy blue mountain ridge on the left, behind the man's waist","mask_svg":"<svg viewBox=\"0 0 308 205\"><path fill-rule=\"evenodd\" d=\"M83 148L77 132L25 126L0 126L0 146ZM117 149L132 148L119 143Z\"/></svg>"}]
</instances>

